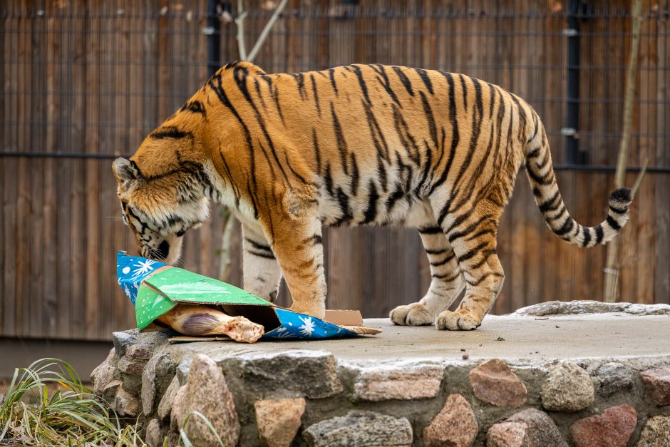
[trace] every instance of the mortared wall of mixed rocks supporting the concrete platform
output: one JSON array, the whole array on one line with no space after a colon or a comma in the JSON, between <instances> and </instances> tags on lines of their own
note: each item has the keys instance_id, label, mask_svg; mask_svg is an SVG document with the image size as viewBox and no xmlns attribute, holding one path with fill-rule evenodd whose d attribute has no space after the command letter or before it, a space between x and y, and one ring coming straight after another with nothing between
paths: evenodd
<instances>
[{"instance_id":1,"label":"mortared wall of mixed rocks supporting the concrete platform","mask_svg":"<svg viewBox=\"0 0 670 447\"><path fill-rule=\"evenodd\" d=\"M151 446L174 444L193 411L226 446L670 446L670 356L343 361L133 330L92 381ZM198 416L185 432L218 445Z\"/></svg>"}]
</instances>

